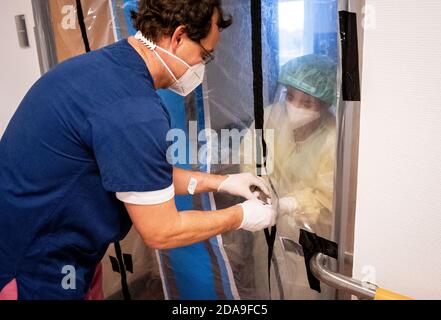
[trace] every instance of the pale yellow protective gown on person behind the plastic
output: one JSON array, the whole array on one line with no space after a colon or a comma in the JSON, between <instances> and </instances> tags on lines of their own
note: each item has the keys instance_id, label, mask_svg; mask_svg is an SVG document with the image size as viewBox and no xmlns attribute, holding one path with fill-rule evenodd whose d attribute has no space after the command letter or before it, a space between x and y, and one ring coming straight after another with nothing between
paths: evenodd
<instances>
[{"instance_id":1,"label":"pale yellow protective gown on person behind the plastic","mask_svg":"<svg viewBox=\"0 0 441 320\"><path fill-rule=\"evenodd\" d=\"M330 239L333 222L333 186L336 154L335 118L325 112L307 130L293 131L284 103L265 109L267 174L279 199L292 197L298 206L279 212L274 247L271 288L273 299L320 299L311 290L301 246L300 229ZM244 138L251 143L252 135ZM244 150L244 149L242 149ZM242 159L244 159L242 157ZM254 172L255 164L242 165ZM254 255L257 287L268 288L267 250L263 232L255 234Z\"/></svg>"}]
</instances>

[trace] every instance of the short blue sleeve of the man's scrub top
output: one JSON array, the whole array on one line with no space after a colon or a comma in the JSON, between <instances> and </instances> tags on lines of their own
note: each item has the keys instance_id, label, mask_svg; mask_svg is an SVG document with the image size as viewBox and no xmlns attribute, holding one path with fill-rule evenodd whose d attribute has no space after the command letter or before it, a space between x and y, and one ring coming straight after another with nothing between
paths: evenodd
<instances>
[{"instance_id":1,"label":"short blue sleeve of the man's scrub top","mask_svg":"<svg viewBox=\"0 0 441 320\"><path fill-rule=\"evenodd\" d=\"M126 98L90 119L92 148L109 192L152 192L173 184L170 117L159 97Z\"/></svg>"}]
</instances>

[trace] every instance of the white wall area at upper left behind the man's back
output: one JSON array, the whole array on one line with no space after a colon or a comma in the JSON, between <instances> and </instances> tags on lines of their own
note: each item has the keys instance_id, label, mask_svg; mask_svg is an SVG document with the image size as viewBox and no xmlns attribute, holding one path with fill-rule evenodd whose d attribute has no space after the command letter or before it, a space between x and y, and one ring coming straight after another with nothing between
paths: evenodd
<instances>
[{"instance_id":1,"label":"white wall area at upper left behind the man's back","mask_svg":"<svg viewBox=\"0 0 441 320\"><path fill-rule=\"evenodd\" d=\"M18 45L15 15L25 14L30 48ZM0 137L20 101L40 76L31 0L1 0Z\"/></svg>"}]
</instances>

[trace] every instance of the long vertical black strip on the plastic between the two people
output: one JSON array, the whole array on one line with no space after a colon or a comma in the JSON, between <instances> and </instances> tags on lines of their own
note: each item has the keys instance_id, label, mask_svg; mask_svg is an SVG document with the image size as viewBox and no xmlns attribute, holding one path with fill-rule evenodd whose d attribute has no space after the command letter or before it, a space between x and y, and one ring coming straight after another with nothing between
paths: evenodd
<instances>
[{"instance_id":1,"label":"long vertical black strip on the plastic between the two people","mask_svg":"<svg viewBox=\"0 0 441 320\"><path fill-rule=\"evenodd\" d=\"M252 29L252 54L253 54L253 93L254 93L254 120L256 128L256 158L258 174L266 165L267 146L263 135L264 103L263 103L263 50L262 50L262 1L251 0L251 29ZM260 145L259 142L262 142ZM260 163L264 159L264 163ZM271 297L271 261L276 241L276 226L271 231L265 229L265 239L268 245L268 286Z\"/></svg>"}]
</instances>

